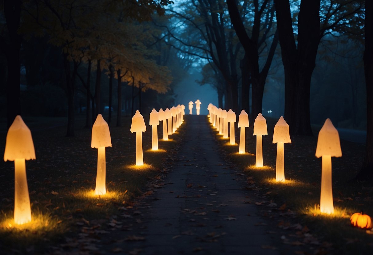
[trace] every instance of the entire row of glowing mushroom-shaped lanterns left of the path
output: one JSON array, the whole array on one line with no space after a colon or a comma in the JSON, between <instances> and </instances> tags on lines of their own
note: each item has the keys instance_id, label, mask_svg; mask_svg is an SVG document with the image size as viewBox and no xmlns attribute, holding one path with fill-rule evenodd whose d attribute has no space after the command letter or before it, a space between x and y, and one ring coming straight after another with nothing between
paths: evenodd
<instances>
[{"instance_id":1,"label":"entire row of glowing mushroom-shaped lanterns left of the path","mask_svg":"<svg viewBox=\"0 0 373 255\"><path fill-rule=\"evenodd\" d=\"M160 109L159 112L153 109L149 116L149 124L153 128L152 147L158 150L158 130L157 126L163 121L163 140L168 140L168 135L176 132L176 129L183 122L185 106L173 106L171 109ZM166 121L168 120L168 130ZM132 117L131 132L136 133L136 165L144 165L142 156L142 132L146 131L144 118L137 110ZM106 147L111 147L109 125L101 114L92 127L91 147L97 148L97 177L96 177L96 195L106 194ZM16 116L12 125L9 127L4 161L14 161L15 170L15 199L14 199L14 222L22 225L31 222L31 205L26 177L25 160L35 159L34 142L32 141L31 131L23 122L21 116Z\"/></svg>"}]
</instances>

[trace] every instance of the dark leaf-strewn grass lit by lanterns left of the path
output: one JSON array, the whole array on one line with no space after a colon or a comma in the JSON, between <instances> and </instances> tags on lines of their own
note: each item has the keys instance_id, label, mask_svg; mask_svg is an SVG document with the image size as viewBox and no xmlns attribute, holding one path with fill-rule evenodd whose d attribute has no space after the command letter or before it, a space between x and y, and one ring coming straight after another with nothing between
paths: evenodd
<instances>
[{"instance_id":1,"label":"dark leaf-strewn grass lit by lanterns left of the path","mask_svg":"<svg viewBox=\"0 0 373 255\"><path fill-rule=\"evenodd\" d=\"M131 208L137 197L150 194L150 182L163 185L159 174L167 171L167 163L172 160L182 139L176 132L170 136L170 141L159 140L159 151L151 151L152 132L147 125L147 132L142 137L145 166L136 167L131 118L123 118L122 127L115 127L114 119L110 125L112 148L106 148L108 193L95 196L97 149L91 148L91 129L82 128L84 118L76 120L75 137L65 137L66 126L62 118L25 117L23 120L31 129L36 153L36 160L26 161L33 220L15 226L14 162L1 161L0 247L4 253L50 252L48 249L53 244L64 243L67 238L80 238L78 232L83 225L95 222L98 229L106 226L113 215ZM147 117L145 123L148 124ZM4 121L0 133L3 155ZM158 137L163 137L162 126L158 127Z\"/></svg>"}]
</instances>

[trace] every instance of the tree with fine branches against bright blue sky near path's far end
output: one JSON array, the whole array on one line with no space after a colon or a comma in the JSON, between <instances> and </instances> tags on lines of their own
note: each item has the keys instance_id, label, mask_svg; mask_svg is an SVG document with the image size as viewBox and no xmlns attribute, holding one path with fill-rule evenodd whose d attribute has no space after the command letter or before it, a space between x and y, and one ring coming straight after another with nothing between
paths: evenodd
<instances>
[{"instance_id":1,"label":"tree with fine branches against bright blue sky near path's far end","mask_svg":"<svg viewBox=\"0 0 373 255\"><path fill-rule=\"evenodd\" d=\"M237 111L240 75L236 59L242 54L241 43L232 31L224 1L186 1L178 6L177 12L168 11L178 21L173 23L172 28L167 28L167 35L171 35L174 42L166 43L184 53L213 62L225 81L225 107ZM180 23L187 26L180 26Z\"/></svg>"}]
</instances>

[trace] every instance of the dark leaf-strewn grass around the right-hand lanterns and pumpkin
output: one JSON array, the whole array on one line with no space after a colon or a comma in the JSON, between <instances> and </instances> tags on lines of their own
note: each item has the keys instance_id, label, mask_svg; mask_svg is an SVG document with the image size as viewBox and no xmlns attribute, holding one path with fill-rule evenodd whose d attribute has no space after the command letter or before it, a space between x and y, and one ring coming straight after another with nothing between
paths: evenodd
<instances>
[{"instance_id":1,"label":"dark leaf-strewn grass around the right-hand lanterns and pumpkin","mask_svg":"<svg viewBox=\"0 0 373 255\"><path fill-rule=\"evenodd\" d=\"M297 254L370 254L373 250L372 232L350 224L352 213L363 210L373 216L372 185L351 181L361 167L365 146L341 141L342 157L332 158L335 214L321 214L321 158L315 156L319 130L314 130L315 137L292 136L292 143L285 144L286 181L277 183L277 145L272 144L276 122L277 119L267 118L268 136L263 136L263 168L255 167L254 123L246 129L246 154L238 154L238 144L229 145L229 140L218 135L212 126L211 130L227 159L247 174L247 188L256 190L256 204L263 207L263 216L272 218L279 229L291 230L281 239L283 243L299 246L295 248ZM235 139L239 143L237 123L235 126ZM297 241L289 242L292 238Z\"/></svg>"}]
</instances>

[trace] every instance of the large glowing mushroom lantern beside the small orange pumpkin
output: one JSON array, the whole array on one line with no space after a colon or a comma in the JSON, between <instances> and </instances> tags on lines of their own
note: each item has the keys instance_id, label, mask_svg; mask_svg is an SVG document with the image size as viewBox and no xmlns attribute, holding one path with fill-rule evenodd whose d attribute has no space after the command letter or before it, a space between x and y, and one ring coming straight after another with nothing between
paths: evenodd
<instances>
[{"instance_id":1,"label":"large glowing mushroom lantern beside the small orange pumpkin","mask_svg":"<svg viewBox=\"0 0 373 255\"><path fill-rule=\"evenodd\" d=\"M339 134L330 119L326 119L317 138L316 157L322 157L320 211L333 214L332 156L341 157Z\"/></svg>"}]
</instances>

